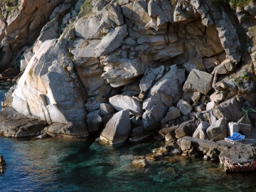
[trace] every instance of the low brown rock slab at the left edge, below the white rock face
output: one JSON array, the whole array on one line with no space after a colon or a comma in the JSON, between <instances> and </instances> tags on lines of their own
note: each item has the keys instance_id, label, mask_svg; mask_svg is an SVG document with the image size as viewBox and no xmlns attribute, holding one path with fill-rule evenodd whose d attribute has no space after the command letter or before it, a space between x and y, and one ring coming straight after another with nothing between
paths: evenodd
<instances>
[{"instance_id":1,"label":"low brown rock slab at the left edge, below the white rock face","mask_svg":"<svg viewBox=\"0 0 256 192\"><path fill-rule=\"evenodd\" d=\"M11 107L0 112L0 135L5 137L31 137L46 126L43 120L25 117Z\"/></svg>"}]
</instances>

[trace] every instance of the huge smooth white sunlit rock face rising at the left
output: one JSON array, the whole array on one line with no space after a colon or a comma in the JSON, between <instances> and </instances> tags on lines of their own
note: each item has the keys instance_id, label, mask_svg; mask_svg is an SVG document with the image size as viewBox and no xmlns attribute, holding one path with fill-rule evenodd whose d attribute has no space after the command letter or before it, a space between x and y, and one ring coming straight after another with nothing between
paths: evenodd
<instances>
[{"instance_id":1,"label":"huge smooth white sunlit rock face rising at the left","mask_svg":"<svg viewBox=\"0 0 256 192\"><path fill-rule=\"evenodd\" d=\"M18 81L12 107L27 117L37 117L48 124L75 124L87 130L84 101L75 80L70 78L73 65L65 66L62 60L53 60L58 59L55 53L60 57L63 46L63 42L56 44L55 40L42 44Z\"/></svg>"}]
</instances>

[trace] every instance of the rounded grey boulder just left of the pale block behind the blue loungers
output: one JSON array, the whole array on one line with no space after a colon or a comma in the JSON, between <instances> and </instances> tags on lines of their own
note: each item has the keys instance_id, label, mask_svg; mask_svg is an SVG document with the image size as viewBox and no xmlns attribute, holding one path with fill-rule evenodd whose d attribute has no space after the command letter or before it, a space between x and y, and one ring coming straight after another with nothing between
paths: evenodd
<instances>
[{"instance_id":1,"label":"rounded grey boulder just left of the pale block behind the blue loungers","mask_svg":"<svg viewBox=\"0 0 256 192\"><path fill-rule=\"evenodd\" d=\"M222 117L213 122L206 132L211 141L218 142L228 136L228 121Z\"/></svg>"}]
</instances>

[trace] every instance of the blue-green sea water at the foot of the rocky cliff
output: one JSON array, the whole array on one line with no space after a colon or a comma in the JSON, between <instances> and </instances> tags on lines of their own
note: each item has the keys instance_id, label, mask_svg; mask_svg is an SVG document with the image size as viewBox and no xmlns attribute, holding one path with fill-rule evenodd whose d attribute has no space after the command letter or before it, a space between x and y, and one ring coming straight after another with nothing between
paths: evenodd
<instances>
[{"instance_id":1,"label":"blue-green sea water at the foot of the rocky cliff","mask_svg":"<svg viewBox=\"0 0 256 192\"><path fill-rule=\"evenodd\" d=\"M0 87L2 100L8 88ZM255 172L225 174L218 161L167 156L145 169L131 165L132 155L163 145L0 137L0 191L256 191Z\"/></svg>"}]
</instances>

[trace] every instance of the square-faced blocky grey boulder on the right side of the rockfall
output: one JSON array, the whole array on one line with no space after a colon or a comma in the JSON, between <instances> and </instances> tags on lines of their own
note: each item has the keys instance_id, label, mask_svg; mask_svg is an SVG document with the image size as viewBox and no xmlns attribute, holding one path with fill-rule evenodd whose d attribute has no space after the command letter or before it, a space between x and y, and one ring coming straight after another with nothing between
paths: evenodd
<instances>
[{"instance_id":1,"label":"square-faced blocky grey boulder on the right side of the rockfall","mask_svg":"<svg viewBox=\"0 0 256 192\"><path fill-rule=\"evenodd\" d=\"M212 82L213 75L197 69L193 69L191 73L189 73L188 78L183 85L183 91L197 91L206 95L211 89Z\"/></svg>"}]
</instances>

